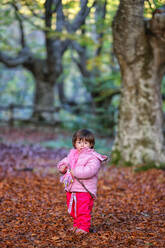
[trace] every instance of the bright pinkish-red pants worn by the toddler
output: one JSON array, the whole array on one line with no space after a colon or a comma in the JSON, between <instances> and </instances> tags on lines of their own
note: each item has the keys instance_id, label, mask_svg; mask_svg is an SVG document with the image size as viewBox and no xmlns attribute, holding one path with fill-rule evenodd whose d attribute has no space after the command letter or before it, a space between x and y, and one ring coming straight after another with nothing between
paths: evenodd
<instances>
[{"instance_id":1,"label":"bright pinkish-red pants worn by the toddler","mask_svg":"<svg viewBox=\"0 0 165 248\"><path fill-rule=\"evenodd\" d=\"M93 198L86 192L67 192L68 212L73 217L73 226L89 232Z\"/></svg>"}]
</instances>

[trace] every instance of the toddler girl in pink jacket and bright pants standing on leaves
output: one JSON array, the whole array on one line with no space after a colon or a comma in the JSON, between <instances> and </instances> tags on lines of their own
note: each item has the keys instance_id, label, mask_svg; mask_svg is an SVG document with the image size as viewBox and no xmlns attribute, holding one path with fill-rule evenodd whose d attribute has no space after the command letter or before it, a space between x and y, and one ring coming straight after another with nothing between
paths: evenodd
<instances>
[{"instance_id":1,"label":"toddler girl in pink jacket and bright pants standing on leaves","mask_svg":"<svg viewBox=\"0 0 165 248\"><path fill-rule=\"evenodd\" d=\"M77 131L72 138L74 149L62 159L57 167L63 174L61 182L67 192L67 207L73 217L72 230L88 233L91 211L97 193L97 178L101 162L107 159L93 148L95 138L89 130Z\"/></svg>"}]
</instances>

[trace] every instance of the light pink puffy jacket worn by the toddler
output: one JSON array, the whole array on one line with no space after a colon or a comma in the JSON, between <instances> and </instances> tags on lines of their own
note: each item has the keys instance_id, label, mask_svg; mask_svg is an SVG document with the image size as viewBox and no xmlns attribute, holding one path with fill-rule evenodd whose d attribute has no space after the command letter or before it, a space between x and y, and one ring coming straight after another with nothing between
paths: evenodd
<instances>
[{"instance_id":1,"label":"light pink puffy jacket worn by the toddler","mask_svg":"<svg viewBox=\"0 0 165 248\"><path fill-rule=\"evenodd\" d=\"M62 159L57 168L68 165L75 177L80 179L86 188L96 196L97 179L101 162L106 160L107 156L101 155L94 149L84 148L80 152L77 149L71 149L68 156ZM74 178L70 192L86 192L84 187Z\"/></svg>"}]
</instances>

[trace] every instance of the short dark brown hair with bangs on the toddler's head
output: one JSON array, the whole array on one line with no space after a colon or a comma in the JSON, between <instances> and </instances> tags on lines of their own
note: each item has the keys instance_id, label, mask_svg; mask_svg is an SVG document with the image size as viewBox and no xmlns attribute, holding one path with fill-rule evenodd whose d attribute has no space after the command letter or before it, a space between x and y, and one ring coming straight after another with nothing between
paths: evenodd
<instances>
[{"instance_id":1,"label":"short dark brown hair with bangs on the toddler's head","mask_svg":"<svg viewBox=\"0 0 165 248\"><path fill-rule=\"evenodd\" d=\"M87 129L80 129L77 132L75 132L72 137L72 144L74 147L75 147L75 143L77 139L79 140L85 139L86 141L90 143L91 148L94 148L95 137L91 131Z\"/></svg>"}]
</instances>

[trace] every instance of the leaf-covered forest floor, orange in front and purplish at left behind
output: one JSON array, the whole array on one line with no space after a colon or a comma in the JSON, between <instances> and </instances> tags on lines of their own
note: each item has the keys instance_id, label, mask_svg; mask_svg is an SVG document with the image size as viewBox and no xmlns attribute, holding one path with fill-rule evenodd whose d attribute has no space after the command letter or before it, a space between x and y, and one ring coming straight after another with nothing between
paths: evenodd
<instances>
[{"instance_id":1,"label":"leaf-covered forest floor, orange in front and purplish at left behind","mask_svg":"<svg viewBox=\"0 0 165 248\"><path fill-rule=\"evenodd\" d=\"M69 232L72 220L56 169L67 150L40 145L55 137L0 128L0 247L165 247L164 170L102 166L90 233Z\"/></svg>"}]
</instances>

